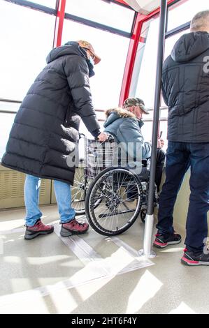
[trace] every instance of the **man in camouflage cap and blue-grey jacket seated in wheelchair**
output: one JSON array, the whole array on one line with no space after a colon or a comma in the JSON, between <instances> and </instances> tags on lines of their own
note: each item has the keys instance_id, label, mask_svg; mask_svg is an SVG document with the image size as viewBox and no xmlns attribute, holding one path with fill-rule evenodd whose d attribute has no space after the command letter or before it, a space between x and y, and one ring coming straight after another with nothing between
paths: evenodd
<instances>
[{"instance_id":1,"label":"man in camouflage cap and blue-grey jacket seated in wheelchair","mask_svg":"<svg viewBox=\"0 0 209 328\"><path fill-rule=\"evenodd\" d=\"M152 145L150 142L144 142L141 128L143 126L143 114L149 114L145 108L145 103L140 98L127 98L124 100L123 108L117 107L106 110L106 121L103 124L105 133L110 133L115 138L118 144L127 144L127 152L130 147L129 144L135 144L137 147L132 147L136 158L136 149L140 149L141 162L147 160L151 156ZM159 138L157 140L157 165L155 173L155 184L157 185L157 192L161 184L161 177L163 167L166 159L166 154L162 149L164 147L164 140ZM129 154L128 154L129 155ZM127 191L129 199L134 199L134 191Z\"/></svg>"}]
</instances>

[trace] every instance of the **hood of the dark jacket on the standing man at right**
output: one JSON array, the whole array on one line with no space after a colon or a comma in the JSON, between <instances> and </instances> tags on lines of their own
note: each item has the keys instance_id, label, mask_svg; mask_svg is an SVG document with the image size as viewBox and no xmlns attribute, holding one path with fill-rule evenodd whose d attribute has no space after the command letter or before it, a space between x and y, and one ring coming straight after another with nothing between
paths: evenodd
<instances>
[{"instance_id":1,"label":"hood of the dark jacket on the standing man at right","mask_svg":"<svg viewBox=\"0 0 209 328\"><path fill-rule=\"evenodd\" d=\"M190 61L209 49L208 32L192 32L184 34L175 43L171 58L177 62Z\"/></svg>"}]
</instances>

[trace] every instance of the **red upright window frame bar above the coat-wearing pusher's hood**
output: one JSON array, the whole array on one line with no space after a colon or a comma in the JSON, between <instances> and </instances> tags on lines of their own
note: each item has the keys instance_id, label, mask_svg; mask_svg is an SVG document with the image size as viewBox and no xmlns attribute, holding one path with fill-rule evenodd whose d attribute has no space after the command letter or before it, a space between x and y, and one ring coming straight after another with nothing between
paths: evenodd
<instances>
[{"instance_id":1,"label":"red upright window frame bar above the coat-wearing pusher's hood","mask_svg":"<svg viewBox=\"0 0 209 328\"><path fill-rule=\"evenodd\" d=\"M65 5L66 0L58 1L53 47L59 47L59 45L62 44L62 29L64 24Z\"/></svg>"}]
</instances>

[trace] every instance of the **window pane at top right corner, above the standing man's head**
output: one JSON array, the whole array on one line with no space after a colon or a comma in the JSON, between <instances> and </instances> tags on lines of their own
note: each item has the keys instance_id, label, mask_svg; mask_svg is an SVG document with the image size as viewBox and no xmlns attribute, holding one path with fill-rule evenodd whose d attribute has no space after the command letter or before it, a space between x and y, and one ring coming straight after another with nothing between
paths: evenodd
<instances>
[{"instance_id":1,"label":"window pane at top right corner, above the standing man's head","mask_svg":"<svg viewBox=\"0 0 209 328\"><path fill-rule=\"evenodd\" d=\"M194 15L201 10L208 10L207 0L182 0L168 10L168 31L190 22Z\"/></svg>"}]
</instances>

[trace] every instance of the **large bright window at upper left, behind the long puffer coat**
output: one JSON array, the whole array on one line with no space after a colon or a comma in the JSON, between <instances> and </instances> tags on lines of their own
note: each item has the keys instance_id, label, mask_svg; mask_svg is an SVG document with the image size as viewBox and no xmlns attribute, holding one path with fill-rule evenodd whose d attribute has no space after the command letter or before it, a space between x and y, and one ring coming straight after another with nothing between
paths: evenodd
<instances>
[{"instance_id":1,"label":"large bright window at upper left, behind the long puffer coat","mask_svg":"<svg viewBox=\"0 0 209 328\"><path fill-rule=\"evenodd\" d=\"M22 100L52 50L55 16L0 1L0 98Z\"/></svg>"}]
</instances>

